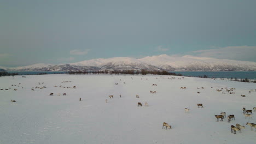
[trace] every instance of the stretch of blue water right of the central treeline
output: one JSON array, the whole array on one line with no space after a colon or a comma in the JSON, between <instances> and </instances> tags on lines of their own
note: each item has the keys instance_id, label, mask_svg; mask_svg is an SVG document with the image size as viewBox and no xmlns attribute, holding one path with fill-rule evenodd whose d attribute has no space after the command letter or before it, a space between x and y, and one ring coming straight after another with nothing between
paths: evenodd
<instances>
[{"instance_id":1,"label":"stretch of blue water right of the central treeline","mask_svg":"<svg viewBox=\"0 0 256 144\"><path fill-rule=\"evenodd\" d=\"M170 71L183 76L203 76L215 78L237 78L256 80L256 71Z\"/></svg>"}]
</instances>

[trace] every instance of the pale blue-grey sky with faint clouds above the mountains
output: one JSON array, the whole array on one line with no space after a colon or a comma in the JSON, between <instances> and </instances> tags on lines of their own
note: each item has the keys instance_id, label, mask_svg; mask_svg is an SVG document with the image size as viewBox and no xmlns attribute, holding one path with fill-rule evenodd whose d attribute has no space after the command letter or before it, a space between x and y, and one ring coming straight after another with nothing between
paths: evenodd
<instances>
[{"instance_id":1,"label":"pale blue-grey sky with faint clouds above the mountains","mask_svg":"<svg viewBox=\"0 0 256 144\"><path fill-rule=\"evenodd\" d=\"M0 65L161 54L256 62L255 7L255 0L0 0Z\"/></svg>"}]
</instances>

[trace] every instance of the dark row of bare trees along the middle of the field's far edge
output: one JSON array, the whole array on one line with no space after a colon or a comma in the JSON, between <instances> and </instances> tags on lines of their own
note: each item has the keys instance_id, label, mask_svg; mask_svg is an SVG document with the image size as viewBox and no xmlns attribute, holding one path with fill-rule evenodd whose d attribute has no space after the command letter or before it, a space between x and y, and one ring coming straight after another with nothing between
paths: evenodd
<instances>
[{"instance_id":1,"label":"dark row of bare trees along the middle of the field's far edge","mask_svg":"<svg viewBox=\"0 0 256 144\"><path fill-rule=\"evenodd\" d=\"M68 71L68 74L129 74L129 75L177 75L182 76L182 74L169 73L168 71L158 71L158 70L104 70L104 71Z\"/></svg>"}]
</instances>

